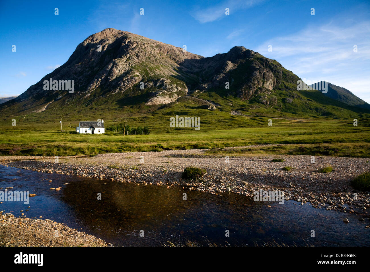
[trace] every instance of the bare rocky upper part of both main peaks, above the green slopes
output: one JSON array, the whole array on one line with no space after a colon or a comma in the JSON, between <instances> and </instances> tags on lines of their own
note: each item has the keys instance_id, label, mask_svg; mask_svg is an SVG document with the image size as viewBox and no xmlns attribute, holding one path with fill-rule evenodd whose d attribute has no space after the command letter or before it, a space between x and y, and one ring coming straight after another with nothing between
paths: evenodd
<instances>
[{"instance_id":1,"label":"bare rocky upper part of both main peaks, above the green slopes","mask_svg":"<svg viewBox=\"0 0 370 272\"><path fill-rule=\"evenodd\" d=\"M244 47L204 58L179 47L107 28L80 43L65 64L13 103L38 112L60 100L88 105L110 95L115 95L115 99L139 95L145 104L157 105L190 93L218 89L232 90L233 95L249 100L260 93L270 94L281 81L282 69L276 61ZM44 90L43 82L50 78L74 80L74 92Z\"/></svg>"}]
</instances>

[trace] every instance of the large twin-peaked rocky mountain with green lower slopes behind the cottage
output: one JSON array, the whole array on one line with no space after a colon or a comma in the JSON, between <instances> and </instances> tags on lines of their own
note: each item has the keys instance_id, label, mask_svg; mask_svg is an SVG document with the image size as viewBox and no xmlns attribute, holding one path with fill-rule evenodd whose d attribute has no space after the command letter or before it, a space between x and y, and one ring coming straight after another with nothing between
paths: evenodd
<instances>
[{"instance_id":1,"label":"large twin-peaked rocky mountain with green lower slopes behind the cottage","mask_svg":"<svg viewBox=\"0 0 370 272\"><path fill-rule=\"evenodd\" d=\"M61 90L58 84L45 90L44 82L50 78L73 81L73 91ZM25 121L35 121L59 115L76 119L77 115L168 115L182 110L222 113L213 114L213 119L230 115L351 118L362 111L323 98L316 90L297 91L298 80L276 60L244 47L202 57L107 28L78 44L66 63L19 97L0 105L0 116L24 115Z\"/></svg>"}]
</instances>

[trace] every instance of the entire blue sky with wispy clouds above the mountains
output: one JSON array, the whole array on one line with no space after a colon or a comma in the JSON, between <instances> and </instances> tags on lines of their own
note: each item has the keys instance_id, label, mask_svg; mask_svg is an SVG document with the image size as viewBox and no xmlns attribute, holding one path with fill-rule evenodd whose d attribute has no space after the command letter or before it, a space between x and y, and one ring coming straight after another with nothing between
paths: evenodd
<instances>
[{"instance_id":1,"label":"entire blue sky with wispy clouds above the mountains","mask_svg":"<svg viewBox=\"0 0 370 272\"><path fill-rule=\"evenodd\" d=\"M23 93L85 38L113 27L205 57L244 46L370 103L369 0L35 2L0 0L0 97Z\"/></svg>"}]
</instances>

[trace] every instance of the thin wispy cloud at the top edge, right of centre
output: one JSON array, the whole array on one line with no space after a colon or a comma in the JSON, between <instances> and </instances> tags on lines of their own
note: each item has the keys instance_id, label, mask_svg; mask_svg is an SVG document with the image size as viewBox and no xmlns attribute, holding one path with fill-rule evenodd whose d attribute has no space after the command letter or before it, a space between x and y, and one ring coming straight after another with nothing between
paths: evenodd
<instances>
[{"instance_id":1,"label":"thin wispy cloud at the top edge, right of centre","mask_svg":"<svg viewBox=\"0 0 370 272\"><path fill-rule=\"evenodd\" d=\"M190 12L190 15L194 17L195 20L199 21L200 23L208 23L215 20L220 19L223 16L227 16L225 14L226 8L229 9L230 15L236 10L241 9L249 9L250 7L259 4L263 0L229 0L225 1L222 4L218 4L217 6L207 7L207 8L199 8L197 7L195 10Z\"/></svg>"}]
</instances>

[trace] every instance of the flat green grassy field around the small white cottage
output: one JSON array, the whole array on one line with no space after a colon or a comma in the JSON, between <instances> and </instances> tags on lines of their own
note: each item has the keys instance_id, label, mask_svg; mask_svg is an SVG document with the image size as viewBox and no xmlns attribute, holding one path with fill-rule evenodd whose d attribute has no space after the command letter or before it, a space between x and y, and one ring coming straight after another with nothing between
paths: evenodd
<instances>
[{"instance_id":1,"label":"flat green grassy field around the small white cottage","mask_svg":"<svg viewBox=\"0 0 370 272\"><path fill-rule=\"evenodd\" d=\"M238 116L239 117L239 116ZM240 127L243 118L246 127ZM0 155L96 155L107 152L161 151L176 149L213 148L208 153L222 155L300 154L343 157L370 157L369 120L292 120L239 117L236 128L217 126L213 121L201 120L201 130L170 128L163 118L132 118L131 126L149 125L151 135L77 134L75 123L64 123L63 132L55 120L45 124L6 126L0 134ZM107 128L113 122L105 120ZM151 125L152 124L152 125ZM213 129L218 127L218 129ZM276 147L253 147L242 150L222 150L256 144L278 144Z\"/></svg>"}]
</instances>

